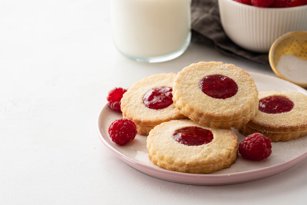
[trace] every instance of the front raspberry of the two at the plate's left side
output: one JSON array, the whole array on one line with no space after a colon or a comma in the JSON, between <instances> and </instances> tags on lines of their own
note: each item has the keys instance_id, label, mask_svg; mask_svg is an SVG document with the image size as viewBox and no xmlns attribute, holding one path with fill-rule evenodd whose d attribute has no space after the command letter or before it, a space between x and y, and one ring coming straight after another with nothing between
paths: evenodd
<instances>
[{"instance_id":1,"label":"front raspberry of the two at the plate's left side","mask_svg":"<svg viewBox=\"0 0 307 205\"><path fill-rule=\"evenodd\" d=\"M113 142L123 146L136 136L136 126L132 120L121 118L110 124L109 135Z\"/></svg>"}]
</instances>

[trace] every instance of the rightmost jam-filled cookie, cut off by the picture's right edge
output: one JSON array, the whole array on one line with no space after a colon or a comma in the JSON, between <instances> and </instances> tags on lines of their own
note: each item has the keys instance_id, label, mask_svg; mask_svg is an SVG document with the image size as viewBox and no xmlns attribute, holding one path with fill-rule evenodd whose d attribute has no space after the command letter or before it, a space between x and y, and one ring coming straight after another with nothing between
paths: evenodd
<instances>
[{"instance_id":1,"label":"rightmost jam-filled cookie, cut off by the picture's right edge","mask_svg":"<svg viewBox=\"0 0 307 205\"><path fill-rule=\"evenodd\" d=\"M288 141L307 134L307 96L294 91L259 92L255 118L237 127L244 135L258 132L272 141Z\"/></svg>"}]
</instances>

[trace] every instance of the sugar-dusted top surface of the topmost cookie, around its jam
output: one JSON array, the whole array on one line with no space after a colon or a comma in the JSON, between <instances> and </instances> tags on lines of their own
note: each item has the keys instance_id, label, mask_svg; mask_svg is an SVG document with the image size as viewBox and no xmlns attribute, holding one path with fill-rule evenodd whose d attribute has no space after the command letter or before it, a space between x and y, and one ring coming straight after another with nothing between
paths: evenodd
<instances>
[{"instance_id":1,"label":"sugar-dusted top surface of the topmost cookie, around its jam","mask_svg":"<svg viewBox=\"0 0 307 205\"><path fill-rule=\"evenodd\" d=\"M238 85L236 95L226 99L215 99L204 94L199 82L205 76L220 74L230 77ZM173 87L173 99L181 107L191 107L187 112L206 110L213 121L238 119L258 106L258 91L254 80L243 69L222 62L200 62L184 68L177 74ZM193 110L192 110L193 109ZM207 116L209 117L209 116Z\"/></svg>"}]
</instances>

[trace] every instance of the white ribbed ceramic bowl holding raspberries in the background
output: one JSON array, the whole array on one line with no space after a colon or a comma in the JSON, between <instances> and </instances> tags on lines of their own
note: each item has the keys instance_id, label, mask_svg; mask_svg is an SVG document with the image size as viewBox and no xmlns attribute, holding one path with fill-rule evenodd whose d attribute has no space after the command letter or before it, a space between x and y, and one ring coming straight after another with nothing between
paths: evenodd
<instances>
[{"instance_id":1,"label":"white ribbed ceramic bowl holding raspberries in the background","mask_svg":"<svg viewBox=\"0 0 307 205\"><path fill-rule=\"evenodd\" d=\"M272 43L290 31L307 30L307 5L260 8L234 0L218 0L223 29L240 47L267 53Z\"/></svg>"}]
</instances>

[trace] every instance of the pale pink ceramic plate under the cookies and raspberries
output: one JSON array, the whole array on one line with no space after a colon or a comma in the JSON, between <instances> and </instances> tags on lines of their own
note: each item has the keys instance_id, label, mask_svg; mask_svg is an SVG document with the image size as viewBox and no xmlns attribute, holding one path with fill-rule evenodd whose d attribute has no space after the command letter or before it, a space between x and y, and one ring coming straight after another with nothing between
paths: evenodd
<instances>
[{"instance_id":1,"label":"pale pink ceramic plate under the cookies and raspberries","mask_svg":"<svg viewBox=\"0 0 307 205\"><path fill-rule=\"evenodd\" d=\"M258 91L292 90L307 95L305 89L280 78L253 72L250 72L250 75L255 80ZM262 161L245 160L239 155L236 163L230 168L210 174L169 171L151 162L146 147L146 136L137 135L133 141L122 147L112 142L108 135L108 127L117 118L122 118L122 114L112 111L107 105L102 108L98 117L97 131L103 144L133 168L168 181L199 185L243 183L279 174L307 158L307 136L304 136L288 142L274 142L271 156ZM232 129L239 141L242 141L245 136L235 128Z\"/></svg>"}]
</instances>

